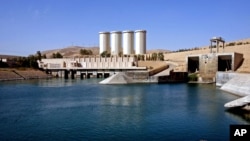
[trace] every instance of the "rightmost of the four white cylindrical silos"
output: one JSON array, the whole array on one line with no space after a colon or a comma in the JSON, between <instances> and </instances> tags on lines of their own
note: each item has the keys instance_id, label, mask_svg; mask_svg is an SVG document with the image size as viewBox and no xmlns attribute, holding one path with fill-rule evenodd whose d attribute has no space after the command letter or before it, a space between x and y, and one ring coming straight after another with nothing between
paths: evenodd
<instances>
[{"instance_id":1,"label":"rightmost of the four white cylindrical silos","mask_svg":"<svg viewBox=\"0 0 250 141\"><path fill-rule=\"evenodd\" d=\"M146 30L135 31L135 54L146 54Z\"/></svg>"}]
</instances>

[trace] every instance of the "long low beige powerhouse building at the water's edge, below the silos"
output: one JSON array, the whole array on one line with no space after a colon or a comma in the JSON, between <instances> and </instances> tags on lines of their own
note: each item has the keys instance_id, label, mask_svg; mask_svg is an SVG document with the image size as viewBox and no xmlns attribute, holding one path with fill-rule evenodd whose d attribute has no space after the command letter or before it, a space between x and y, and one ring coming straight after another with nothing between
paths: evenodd
<instances>
[{"instance_id":1,"label":"long low beige powerhouse building at the water's edge, below the silos","mask_svg":"<svg viewBox=\"0 0 250 141\"><path fill-rule=\"evenodd\" d=\"M122 71L146 71L146 67L138 67L135 57L86 57L86 58L61 58L42 59L38 61L39 68L58 77L72 79L108 77Z\"/></svg>"}]
</instances>

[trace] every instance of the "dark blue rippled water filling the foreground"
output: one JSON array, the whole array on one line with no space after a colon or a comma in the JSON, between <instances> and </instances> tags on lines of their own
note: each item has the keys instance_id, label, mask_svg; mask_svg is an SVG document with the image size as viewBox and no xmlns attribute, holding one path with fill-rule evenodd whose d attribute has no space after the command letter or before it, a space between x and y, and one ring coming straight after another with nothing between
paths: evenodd
<instances>
[{"instance_id":1,"label":"dark blue rippled water filling the foreground","mask_svg":"<svg viewBox=\"0 0 250 141\"><path fill-rule=\"evenodd\" d=\"M229 140L249 124L214 85L99 85L100 79L0 82L0 140Z\"/></svg>"}]
</instances>

